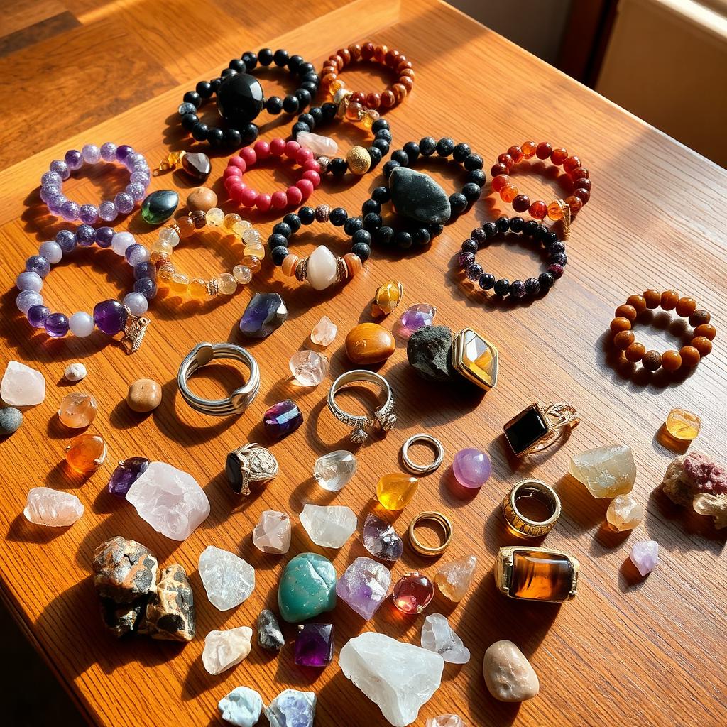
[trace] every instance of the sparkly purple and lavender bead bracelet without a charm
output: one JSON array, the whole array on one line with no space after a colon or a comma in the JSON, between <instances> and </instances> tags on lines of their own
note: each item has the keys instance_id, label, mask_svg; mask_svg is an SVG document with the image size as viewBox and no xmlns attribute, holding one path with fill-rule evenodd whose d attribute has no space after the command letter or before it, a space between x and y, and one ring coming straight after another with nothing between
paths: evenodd
<instances>
[{"instance_id":1,"label":"sparkly purple and lavender bead bracelet without a charm","mask_svg":"<svg viewBox=\"0 0 727 727\"><path fill-rule=\"evenodd\" d=\"M105 200L100 205L73 202L63 195L63 182L71 176L71 172L81 169L86 164L97 161L118 161L129 170L129 184L123 192L119 192L112 200ZM81 149L69 149L63 160L55 159L49 165L49 171L41 177L41 199L47 204L51 214L60 214L66 222L81 220L87 224L96 222L100 217L106 222L116 220L119 214L129 214L134 205L146 196L151 172L143 154L137 153L126 144L116 146L106 142L98 148L95 144L86 144Z\"/></svg>"}]
</instances>

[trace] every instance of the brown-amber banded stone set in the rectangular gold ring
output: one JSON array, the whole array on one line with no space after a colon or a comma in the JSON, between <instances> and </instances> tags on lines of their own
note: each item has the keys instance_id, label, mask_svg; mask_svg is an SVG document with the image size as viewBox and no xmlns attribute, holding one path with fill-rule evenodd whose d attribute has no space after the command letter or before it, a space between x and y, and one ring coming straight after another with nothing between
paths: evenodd
<instances>
[{"instance_id":1,"label":"brown-amber banded stone set in the rectangular gold ring","mask_svg":"<svg viewBox=\"0 0 727 727\"><path fill-rule=\"evenodd\" d=\"M515 550L510 595L531 601L566 601L573 585L573 563L565 555Z\"/></svg>"}]
</instances>

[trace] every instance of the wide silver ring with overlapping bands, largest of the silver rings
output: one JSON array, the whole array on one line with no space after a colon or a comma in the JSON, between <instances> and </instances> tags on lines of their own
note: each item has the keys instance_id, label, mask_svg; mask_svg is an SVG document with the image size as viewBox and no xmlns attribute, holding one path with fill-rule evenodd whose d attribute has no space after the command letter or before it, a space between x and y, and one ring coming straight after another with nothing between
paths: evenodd
<instances>
[{"instance_id":1,"label":"wide silver ring with overlapping bands, largest of the silver rings","mask_svg":"<svg viewBox=\"0 0 727 727\"><path fill-rule=\"evenodd\" d=\"M244 386L234 390L226 399L203 399L193 394L187 385L187 379L202 366L206 366L215 358L232 358L241 361L250 369L250 377ZM252 403L260 390L260 369L257 361L241 346L233 343L198 343L185 356L177 373L177 386L182 398L196 411L209 414L211 417L230 417L241 414Z\"/></svg>"}]
</instances>

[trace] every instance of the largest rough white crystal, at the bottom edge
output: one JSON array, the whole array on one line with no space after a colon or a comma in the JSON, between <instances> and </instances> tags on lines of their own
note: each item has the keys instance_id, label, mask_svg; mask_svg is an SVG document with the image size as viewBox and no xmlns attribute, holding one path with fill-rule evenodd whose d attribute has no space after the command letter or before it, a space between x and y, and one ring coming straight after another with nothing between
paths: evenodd
<instances>
[{"instance_id":1,"label":"largest rough white crystal, at the bottom edge","mask_svg":"<svg viewBox=\"0 0 727 727\"><path fill-rule=\"evenodd\" d=\"M375 631L350 639L339 664L395 727L417 719L422 704L439 688L444 669L439 654Z\"/></svg>"}]
</instances>

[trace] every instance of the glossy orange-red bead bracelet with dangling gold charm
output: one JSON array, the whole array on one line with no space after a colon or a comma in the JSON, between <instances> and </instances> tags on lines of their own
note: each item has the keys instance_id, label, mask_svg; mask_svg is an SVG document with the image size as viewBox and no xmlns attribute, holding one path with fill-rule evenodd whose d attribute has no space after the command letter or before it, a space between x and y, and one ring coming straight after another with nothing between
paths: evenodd
<instances>
[{"instance_id":1,"label":"glossy orange-red bead bracelet with dangling gold charm","mask_svg":"<svg viewBox=\"0 0 727 727\"><path fill-rule=\"evenodd\" d=\"M521 194L508 176L515 164L523 159L534 156L541 160L550 159L555 166L563 166L563 172L571 183L571 196L565 199L556 199L550 204L542 200L530 201L529 196ZM549 217L550 220L563 220L566 229L571 218L578 214L584 204L590 199L590 174L581 164L578 156L569 156L562 147L553 148L547 141L536 144L534 141L523 142L521 146L511 146L507 152L497 157L497 164L490 169L492 175L492 189L499 192L503 202L511 202L515 212L529 212L536 220Z\"/></svg>"}]
</instances>

